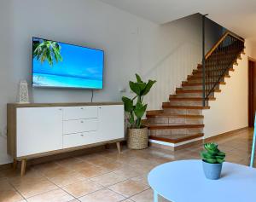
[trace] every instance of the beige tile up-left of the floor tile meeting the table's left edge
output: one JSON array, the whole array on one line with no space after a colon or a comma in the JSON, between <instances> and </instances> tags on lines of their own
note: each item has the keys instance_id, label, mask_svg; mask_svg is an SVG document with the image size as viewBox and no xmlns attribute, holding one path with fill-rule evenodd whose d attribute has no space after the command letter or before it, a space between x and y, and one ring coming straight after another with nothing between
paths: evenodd
<instances>
[{"instance_id":1,"label":"beige tile up-left of the floor tile meeting the table's left edge","mask_svg":"<svg viewBox=\"0 0 256 202\"><path fill-rule=\"evenodd\" d=\"M91 178L92 181L101 184L102 186L108 187L118 182L125 181L127 178L124 176L118 176L114 173L108 173L102 176L96 176Z\"/></svg>"}]
</instances>

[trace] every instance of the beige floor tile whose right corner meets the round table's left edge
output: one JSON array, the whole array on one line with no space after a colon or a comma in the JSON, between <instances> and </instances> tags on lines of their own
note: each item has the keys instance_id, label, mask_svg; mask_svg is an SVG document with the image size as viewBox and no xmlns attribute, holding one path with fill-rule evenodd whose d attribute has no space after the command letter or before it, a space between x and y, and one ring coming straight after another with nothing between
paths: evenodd
<instances>
[{"instance_id":1,"label":"beige floor tile whose right corner meets the round table's left edge","mask_svg":"<svg viewBox=\"0 0 256 202\"><path fill-rule=\"evenodd\" d=\"M132 195L141 193L144 190L148 189L148 186L143 183L140 183L140 182L127 180L125 182L119 182L118 184L115 184L115 185L109 187L109 189L129 198Z\"/></svg>"}]
</instances>

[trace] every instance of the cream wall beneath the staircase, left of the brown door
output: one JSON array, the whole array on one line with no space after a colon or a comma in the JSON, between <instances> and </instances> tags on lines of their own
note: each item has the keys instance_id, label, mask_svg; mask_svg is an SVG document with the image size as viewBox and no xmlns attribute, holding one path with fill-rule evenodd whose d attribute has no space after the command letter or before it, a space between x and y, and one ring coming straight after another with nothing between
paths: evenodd
<instances>
[{"instance_id":1,"label":"cream wall beneath the staircase, left of the brown door","mask_svg":"<svg viewBox=\"0 0 256 202\"><path fill-rule=\"evenodd\" d=\"M246 41L246 55L241 55L231 78L225 78L221 93L216 93L216 101L210 101L210 109L204 110L205 138L216 136L248 125L248 61L247 57L256 55L256 46Z\"/></svg>"}]
</instances>

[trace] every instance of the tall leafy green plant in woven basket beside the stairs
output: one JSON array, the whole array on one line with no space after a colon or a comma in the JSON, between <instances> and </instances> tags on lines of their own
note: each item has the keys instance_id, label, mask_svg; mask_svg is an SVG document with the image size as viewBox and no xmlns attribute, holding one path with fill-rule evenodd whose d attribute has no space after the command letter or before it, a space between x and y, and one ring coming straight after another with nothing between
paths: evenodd
<instances>
[{"instance_id":1,"label":"tall leafy green plant in woven basket beside the stairs","mask_svg":"<svg viewBox=\"0 0 256 202\"><path fill-rule=\"evenodd\" d=\"M128 136L127 144L131 149L143 149L148 147L148 128L142 124L142 118L147 109L147 104L143 103L143 97L148 94L156 81L148 80L143 82L142 78L136 74L137 82L129 82L129 86L135 96L130 99L123 96L125 112L128 113Z\"/></svg>"}]
</instances>

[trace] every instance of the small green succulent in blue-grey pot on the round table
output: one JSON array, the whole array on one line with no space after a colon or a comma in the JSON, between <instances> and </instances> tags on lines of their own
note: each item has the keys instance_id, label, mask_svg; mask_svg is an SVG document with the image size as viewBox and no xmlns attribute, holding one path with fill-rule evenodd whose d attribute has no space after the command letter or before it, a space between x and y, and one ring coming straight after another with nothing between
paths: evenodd
<instances>
[{"instance_id":1,"label":"small green succulent in blue-grey pot on the round table","mask_svg":"<svg viewBox=\"0 0 256 202\"><path fill-rule=\"evenodd\" d=\"M210 180L218 180L225 159L225 153L219 151L218 144L204 144L205 151L201 152L201 159L205 176Z\"/></svg>"}]
</instances>

